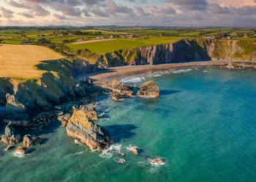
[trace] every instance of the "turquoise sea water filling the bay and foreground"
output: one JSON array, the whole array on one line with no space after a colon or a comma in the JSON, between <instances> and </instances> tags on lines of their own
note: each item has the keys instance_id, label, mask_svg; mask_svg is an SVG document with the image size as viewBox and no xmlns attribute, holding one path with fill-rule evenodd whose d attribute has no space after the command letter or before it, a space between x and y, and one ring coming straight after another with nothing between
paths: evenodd
<instances>
[{"instance_id":1,"label":"turquoise sea water filling the bay and foreground","mask_svg":"<svg viewBox=\"0 0 256 182\"><path fill-rule=\"evenodd\" d=\"M127 154L124 165L117 152L91 152L53 123L26 157L0 145L0 181L255 181L255 71L191 68L123 81L149 79L159 99L113 102L105 95L97 105L108 116L97 123ZM129 154L129 145L143 152ZM155 157L166 164L152 166L148 158Z\"/></svg>"}]
</instances>

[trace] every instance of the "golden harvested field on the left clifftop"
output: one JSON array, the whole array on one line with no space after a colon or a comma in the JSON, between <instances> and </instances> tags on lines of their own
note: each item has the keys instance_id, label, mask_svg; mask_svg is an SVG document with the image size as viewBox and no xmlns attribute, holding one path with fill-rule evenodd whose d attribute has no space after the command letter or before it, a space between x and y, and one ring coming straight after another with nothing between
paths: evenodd
<instances>
[{"instance_id":1,"label":"golden harvested field on the left clifftop","mask_svg":"<svg viewBox=\"0 0 256 182\"><path fill-rule=\"evenodd\" d=\"M44 71L37 70L37 64L43 60L61 58L64 57L47 47L0 44L0 77L39 78Z\"/></svg>"}]
</instances>

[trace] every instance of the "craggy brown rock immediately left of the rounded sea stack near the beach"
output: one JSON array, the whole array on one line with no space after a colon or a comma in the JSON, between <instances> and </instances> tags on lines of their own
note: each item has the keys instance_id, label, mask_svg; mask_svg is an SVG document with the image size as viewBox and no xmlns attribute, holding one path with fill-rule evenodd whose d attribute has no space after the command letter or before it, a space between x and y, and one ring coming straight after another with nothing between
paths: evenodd
<instances>
[{"instance_id":1,"label":"craggy brown rock immediately left of the rounded sea stack near the beach","mask_svg":"<svg viewBox=\"0 0 256 182\"><path fill-rule=\"evenodd\" d=\"M133 92L133 87L130 87L127 84L122 84L118 81L118 79L113 80L111 90L122 95L123 97L132 97L135 95L135 92Z\"/></svg>"}]
</instances>

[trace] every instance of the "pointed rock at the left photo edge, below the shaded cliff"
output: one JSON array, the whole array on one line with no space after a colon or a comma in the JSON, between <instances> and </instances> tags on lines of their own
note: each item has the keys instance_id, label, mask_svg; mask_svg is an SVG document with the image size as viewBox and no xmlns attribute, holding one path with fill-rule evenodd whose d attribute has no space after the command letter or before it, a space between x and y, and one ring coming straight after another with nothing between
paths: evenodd
<instances>
[{"instance_id":1,"label":"pointed rock at the left photo edge, below the shaded cliff","mask_svg":"<svg viewBox=\"0 0 256 182\"><path fill-rule=\"evenodd\" d=\"M12 128L11 123L7 124L4 135L1 135L1 141L6 144L19 143L21 136Z\"/></svg>"}]
</instances>

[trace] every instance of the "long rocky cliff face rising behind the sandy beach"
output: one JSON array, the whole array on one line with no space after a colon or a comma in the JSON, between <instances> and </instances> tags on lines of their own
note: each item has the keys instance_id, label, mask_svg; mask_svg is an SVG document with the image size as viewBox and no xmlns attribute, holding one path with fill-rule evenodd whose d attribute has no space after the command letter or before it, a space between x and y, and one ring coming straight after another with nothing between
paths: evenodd
<instances>
[{"instance_id":1,"label":"long rocky cliff face rising behind the sandy beach","mask_svg":"<svg viewBox=\"0 0 256 182\"><path fill-rule=\"evenodd\" d=\"M181 40L173 44L111 52L106 54L103 60L107 67L207 60L255 62L256 42L222 39Z\"/></svg>"}]
</instances>

